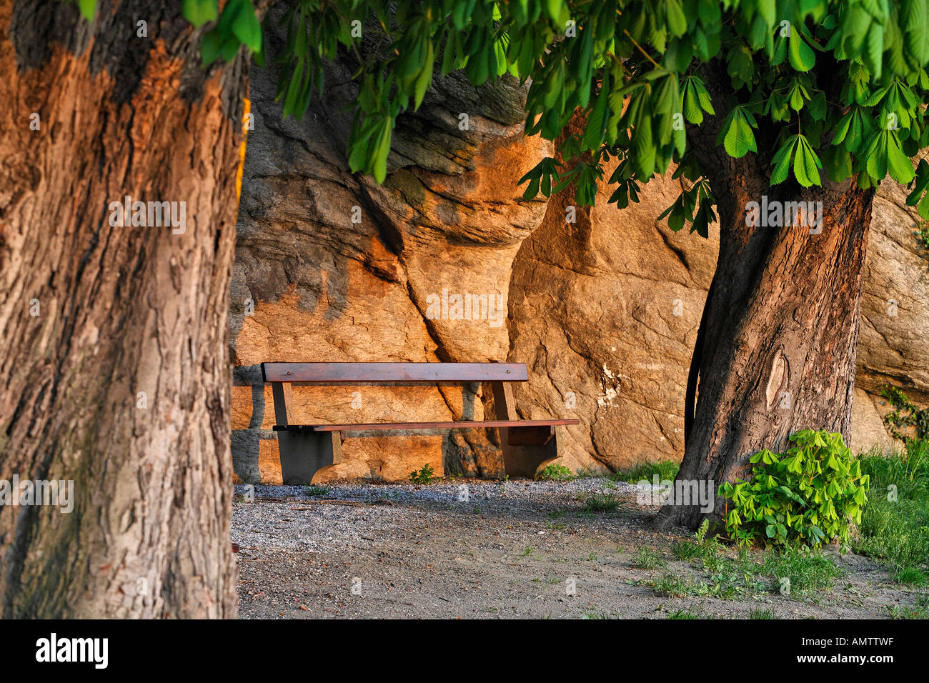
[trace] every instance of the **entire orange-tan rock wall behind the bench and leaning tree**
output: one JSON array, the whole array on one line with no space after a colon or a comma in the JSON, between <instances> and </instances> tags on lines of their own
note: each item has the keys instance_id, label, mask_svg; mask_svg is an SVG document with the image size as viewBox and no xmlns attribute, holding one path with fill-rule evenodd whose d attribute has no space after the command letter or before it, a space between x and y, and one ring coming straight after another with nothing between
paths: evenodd
<instances>
[{"instance_id":1,"label":"entire orange-tan rock wall behind the bench and leaning tree","mask_svg":"<svg viewBox=\"0 0 929 683\"><path fill-rule=\"evenodd\" d=\"M327 82L348 75L333 67ZM652 181L642 203L622 211L606 188L594 208L569 210L570 189L524 201L517 179L551 153L522 136L525 90L508 79L475 90L451 74L398 121L378 187L347 168L351 85L331 88L302 121L282 121L275 74L253 76L231 290L239 479L281 481L261 361L525 362L518 414L581 420L559 432L564 465L681 457L687 367L718 238L656 220L676 183ZM929 400L929 263L903 196L883 188L874 207L856 449L891 442L875 398L883 383ZM456 315L455 296L487 305ZM492 410L479 386L294 387L291 421L482 419ZM317 479L406 479L425 464L502 474L492 430L352 434L343 458Z\"/></svg>"}]
</instances>

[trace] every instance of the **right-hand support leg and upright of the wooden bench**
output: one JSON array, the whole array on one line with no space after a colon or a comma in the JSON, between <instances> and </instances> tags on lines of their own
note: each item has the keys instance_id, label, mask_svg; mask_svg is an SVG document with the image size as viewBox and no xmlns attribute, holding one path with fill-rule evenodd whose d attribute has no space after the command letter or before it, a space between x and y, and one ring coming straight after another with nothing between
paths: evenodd
<instances>
[{"instance_id":1,"label":"right-hand support leg and upright of the wooden bench","mask_svg":"<svg viewBox=\"0 0 929 683\"><path fill-rule=\"evenodd\" d=\"M517 419L513 392L504 382L491 382L498 420ZM499 427L504 470L510 477L535 479L539 467L558 457L555 427Z\"/></svg>"}]
</instances>

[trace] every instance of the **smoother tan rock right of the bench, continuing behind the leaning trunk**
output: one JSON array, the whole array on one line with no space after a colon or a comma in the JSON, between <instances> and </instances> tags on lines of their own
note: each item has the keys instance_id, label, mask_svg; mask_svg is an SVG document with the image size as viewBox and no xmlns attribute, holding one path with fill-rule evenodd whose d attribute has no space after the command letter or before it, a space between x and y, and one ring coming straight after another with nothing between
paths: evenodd
<instances>
[{"instance_id":1,"label":"smoother tan rock right of the bench, continuing behind the leaning trunk","mask_svg":"<svg viewBox=\"0 0 929 683\"><path fill-rule=\"evenodd\" d=\"M542 226L524 243L510 285L510 359L530 365L517 408L564 410L563 458L574 469L616 469L643 460L680 459L684 394L700 313L718 252L710 239L675 234L656 218L679 188L648 184L640 204L597 205L566 222L568 196L551 200ZM598 196L606 199L608 190ZM875 199L857 356L851 446L890 447L881 387L929 399L929 261L913 231L918 219L891 181ZM827 228L828 229L828 228Z\"/></svg>"}]
</instances>

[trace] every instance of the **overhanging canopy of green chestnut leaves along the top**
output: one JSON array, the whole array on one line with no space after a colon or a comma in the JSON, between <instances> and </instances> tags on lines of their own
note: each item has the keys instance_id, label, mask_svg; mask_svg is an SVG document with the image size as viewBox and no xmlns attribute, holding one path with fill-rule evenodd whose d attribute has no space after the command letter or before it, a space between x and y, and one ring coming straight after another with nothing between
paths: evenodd
<instances>
[{"instance_id":1,"label":"overhanging canopy of green chestnut leaves along the top","mask_svg":"<svg viewBox=\"0 0 929 683\"><path fill-rule=\"evenodd\" d=\"M185 11L203 20L211 3L185 0ZM910 162L929 146L929 0L296 0L283 22L284 115L322 92L326 60L353 54L348 160L378 182L399 114L420 106L437 72L462 69L473 85L529 81L527 134L561 140L569 168L543 160L521 178L527 199L573 181L577 201L593 204L615 160L609 201L622 207L676 164L691 189L662 216L706 234L715 216L702 164L712 162L688 137L718 112L721 153L755 155L772 185L856 177L868 188L890 174L913 182L909 204L929 218L929 164ZM260 47L234 23L240 32ZM361 34L376 49L363 54ZM204 60L207 48L226 58L206 43ZM578 112L585 127L566 133Z\"/></svg>"}]
</instances>

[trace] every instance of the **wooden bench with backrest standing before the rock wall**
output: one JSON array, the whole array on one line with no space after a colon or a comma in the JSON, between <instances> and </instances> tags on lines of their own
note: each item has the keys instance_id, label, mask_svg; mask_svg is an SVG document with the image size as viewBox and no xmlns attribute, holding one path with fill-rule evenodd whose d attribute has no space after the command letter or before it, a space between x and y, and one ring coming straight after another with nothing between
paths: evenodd
<instances>
[{"instance_id":1,"label":"wooden bench with backrest standing before the rock wall","mask_svg":"<svg viewBox=\"0 0 929 683\"><path fill-rule=\"evenodd\" d=\"M527 382L523 363L474 362L263 362L261 374L271 385L281 477L285 484L309 484L321 467L342 462L343 432L494 427L500 433L506 474L534 477L540 466L558 456L555 427L578 420L517 420L510 382ZM489 382L496 406L494 420L457 422L376 422L342 425L295 425L287 414L289 383L469 384Z\"/></svg>"}]
</instances>

